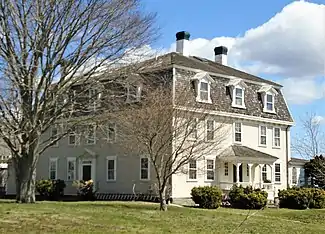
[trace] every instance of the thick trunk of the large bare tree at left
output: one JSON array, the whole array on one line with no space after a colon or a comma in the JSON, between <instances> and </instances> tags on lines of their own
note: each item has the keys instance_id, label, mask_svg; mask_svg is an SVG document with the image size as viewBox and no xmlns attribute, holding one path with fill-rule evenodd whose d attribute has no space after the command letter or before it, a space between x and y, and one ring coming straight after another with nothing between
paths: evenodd
<instances>
[{"instance_id":1,"label":"thick trunk of the large bare tree at left","mask_svg":"<svg viewBox=\"0 0 325 234\"><path fill-rule=\"evenodd\" d=\"M16 202L35 203L36 166L33 157L23 157L15 161Z\"/></svg>"}]
</instances>

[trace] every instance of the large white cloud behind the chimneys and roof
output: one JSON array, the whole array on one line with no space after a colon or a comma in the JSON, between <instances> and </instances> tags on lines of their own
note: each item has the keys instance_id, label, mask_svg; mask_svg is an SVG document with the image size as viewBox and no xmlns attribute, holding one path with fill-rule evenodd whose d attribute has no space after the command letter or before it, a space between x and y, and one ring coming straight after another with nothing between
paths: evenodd
<instances>
[{"instance_id":1,"label":"large white cloud behind the chimneys and roof","mask_svg":"<svg viewBox=\"0 0 325 234\"><path fill-rule=\"evenodd\" d=\"M325 76L325 5L295 1L241 37L193 39L190 53L213 60L213 49L220 45L229 49L229 65L283 78L290 103L325 98L325 81L320 86L314 79ZM169 50L175 51L175 43Z\"/></svg>"}]
</instances>

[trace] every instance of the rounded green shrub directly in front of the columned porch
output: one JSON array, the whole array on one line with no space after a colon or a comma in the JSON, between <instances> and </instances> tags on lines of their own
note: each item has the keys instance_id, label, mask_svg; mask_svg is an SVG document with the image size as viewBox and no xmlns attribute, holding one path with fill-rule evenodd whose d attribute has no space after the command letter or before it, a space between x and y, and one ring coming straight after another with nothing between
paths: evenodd
<instances>
[{"instance_id":1,"label":"rounded green shrub directly in front of the columned porch","mask_svg":"<svg viewBox=\"0 0 325 234\"><path fill-rule=\"evenodd\" d=\"M234 185L230 192L229 198L231 206L239 209L261 209L266 206L267 192L261 189L253 189L252 186Z\"/></svg>"}]
</instances>

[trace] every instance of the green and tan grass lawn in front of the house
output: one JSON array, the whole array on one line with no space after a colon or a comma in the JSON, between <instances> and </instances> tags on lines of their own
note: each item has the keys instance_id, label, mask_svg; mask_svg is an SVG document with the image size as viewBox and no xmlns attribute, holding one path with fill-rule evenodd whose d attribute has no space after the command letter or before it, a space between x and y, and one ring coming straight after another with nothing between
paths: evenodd
<instances>
[{"instance_id":1,"label":"green and tan grass lawn in front of the house","mask_svg":"<svg viewBox=\"0 0 325 234\"><path fill-rule=\"evenodd\" d=\"M0 233L325 233L325 210L255 212L179 207L160 212L157 204L140 202L2 201Z\"/></svg>"}]
</instances>

